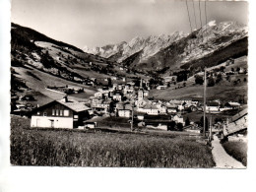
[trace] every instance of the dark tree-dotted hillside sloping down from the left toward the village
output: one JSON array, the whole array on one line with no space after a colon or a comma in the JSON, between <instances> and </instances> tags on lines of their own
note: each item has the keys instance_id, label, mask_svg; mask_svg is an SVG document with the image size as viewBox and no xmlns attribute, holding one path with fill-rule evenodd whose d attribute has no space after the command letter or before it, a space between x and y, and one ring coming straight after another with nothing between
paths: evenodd
<instances>
[{"instance_id":1,"label":"dark tree-dotted hillside sloping down from the left toward the village","mask_svg":"<svg viewBox=\"0 0 256 192\"><path fill-rule=\"evenodd\" d=\"M117 63L108 59L85 53L83 50L52 39L40 32L12 23L11 29L11 73L13 96L22 92L39 92L57 99L48 86L70 86L84 89L88 98L96 92L96 87L105 84L106 78L134 78L120 70ZM143 74L139 77L146 78Z\"/></svg>"}]
</instances>

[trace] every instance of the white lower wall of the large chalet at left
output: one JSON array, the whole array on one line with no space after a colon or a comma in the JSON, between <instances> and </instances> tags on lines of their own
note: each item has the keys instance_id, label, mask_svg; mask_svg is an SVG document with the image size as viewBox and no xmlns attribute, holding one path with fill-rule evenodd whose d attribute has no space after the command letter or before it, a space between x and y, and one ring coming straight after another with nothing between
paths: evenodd
<instances>
[{"instance_id":1,"label":"white lower wall of the large chalet at left","mask_svg":"<svg viewBox=\"0 0 256 192\"><path fill-rule=\"evenodd\" d=\"M47 127L47 128L70 128L73 129L72 117L47 117L32 116L31 127Z\"/></svg>"}]
</instances>

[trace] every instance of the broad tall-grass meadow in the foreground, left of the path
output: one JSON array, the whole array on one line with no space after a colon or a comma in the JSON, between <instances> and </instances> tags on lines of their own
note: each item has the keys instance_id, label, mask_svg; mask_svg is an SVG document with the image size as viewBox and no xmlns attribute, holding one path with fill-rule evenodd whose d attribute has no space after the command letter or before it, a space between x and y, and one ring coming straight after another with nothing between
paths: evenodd
<instances>
[{"instance_id":1,"label":"broad tall-grass meadow in the foreground, left of the path","mask_svg":"<svg viewBox=\"0 0 256 192\"><path fill-rule=\"evenodd\" d=\"M14 165L213 167L211 150L195 138L100 131L30 129L11 116Z\"/></svg>"}]
</instances>

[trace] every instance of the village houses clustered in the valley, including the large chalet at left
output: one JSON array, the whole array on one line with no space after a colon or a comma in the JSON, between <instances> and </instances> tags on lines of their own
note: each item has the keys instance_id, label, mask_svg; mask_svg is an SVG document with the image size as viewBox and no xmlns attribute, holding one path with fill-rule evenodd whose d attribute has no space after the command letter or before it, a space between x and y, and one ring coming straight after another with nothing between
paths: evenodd
<instances>
[{"instance_id":1,"label":"village houses clustered in the valley, including the large chalet at left","mask_svg":"<svg viewBox=\"0 0 256 192\"><path fill-rule=\"evenodd\" d=\"M227 102L221 107L219 100L207 103L206 111L211 113L240 107L237 102ZM95 116L117 116L136 119L138 126L168 130L172 122L185 125L182 112L202 110L200 100L171 99L156 100L149 96L149 84L141 80L135 83L113 84L98 89L90 101L78 102L64 96L62 100L36 107L32 110L32 127L83 128L92 124ZM96 123L94 124L96 126Z\"/></svg>"}]
</instances>

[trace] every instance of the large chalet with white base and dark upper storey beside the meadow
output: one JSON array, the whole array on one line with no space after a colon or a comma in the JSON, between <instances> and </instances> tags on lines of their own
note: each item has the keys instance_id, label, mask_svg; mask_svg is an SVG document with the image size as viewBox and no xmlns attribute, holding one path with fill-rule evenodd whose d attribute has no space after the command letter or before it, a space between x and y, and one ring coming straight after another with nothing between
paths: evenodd
<instances>
[{"instance_id":1,"label":"large chalet with white base and dark upper storey beside the meadow","mask_svg":"<svg viewBox=\"0 0 256 192\"><path fill-rule=\"evenodd\" d=\"M78 128L90 118L89 110L85 103L64 96L62 100L53 100L32 110L31 127Z\"/></svg>"}]
</instances>

